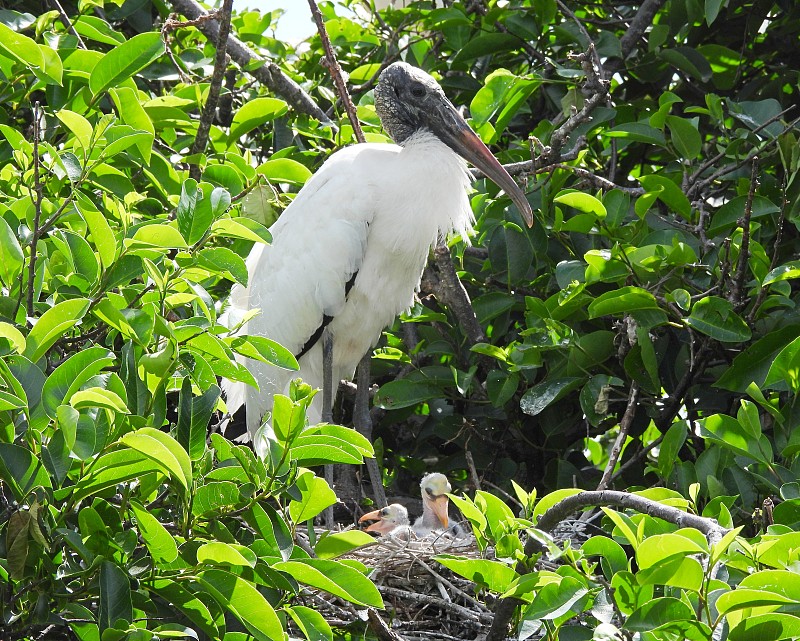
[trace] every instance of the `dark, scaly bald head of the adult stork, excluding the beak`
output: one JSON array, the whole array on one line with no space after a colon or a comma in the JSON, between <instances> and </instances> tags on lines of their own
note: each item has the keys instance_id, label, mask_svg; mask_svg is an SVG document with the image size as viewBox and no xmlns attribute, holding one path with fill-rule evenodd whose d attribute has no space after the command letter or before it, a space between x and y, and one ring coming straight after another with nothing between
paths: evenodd
<instances>
[{"instance_id":1,"label":"dark, scaly bald head of the adult stork, excluding the beak","mask_svg":"<svg viewBox=\"0 0 800 641\"><path fill-rule=\"evenodd\" d=\"M428 118L433 110L441 109L442 102L452 107L438 82L405 62L386 67L375 87L375 109L386 133L397 144L429 128Z\"/></svg>"}]
</instances>

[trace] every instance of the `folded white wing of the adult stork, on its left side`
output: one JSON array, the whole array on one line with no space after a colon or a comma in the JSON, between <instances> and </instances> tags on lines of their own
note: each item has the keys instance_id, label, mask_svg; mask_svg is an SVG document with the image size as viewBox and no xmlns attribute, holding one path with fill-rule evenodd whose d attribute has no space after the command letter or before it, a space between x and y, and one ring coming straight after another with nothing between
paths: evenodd
<instances>
[{"instance_id":1,"label":"folded white wing of the adult stork, on its left side","mask_svg":"<svg viewBox=\"0 0 800 641\"><path fill-rule=\"evenodd\" d=\"M349 286L361 267L375 211L370 197L375 153L395 153L395 149L393 145L348 147L333 154L314 174L272 226L272 244L256 245L251 251L248 286L234 285L231 290L230 326L247 310L260 308L261 314L251 319L242 333L271 338L296 356L312 346L324 325L344 307ZM365 153L371 157L369 162L363 158ZM302 377L303 372L286 372L247 359L243 362L258 381L260 392L227 381L223 389L231 413L247 403L252 434L261 415L272 407L272 396L283 393L288 381Z\"/></svg>"}]
</instances>

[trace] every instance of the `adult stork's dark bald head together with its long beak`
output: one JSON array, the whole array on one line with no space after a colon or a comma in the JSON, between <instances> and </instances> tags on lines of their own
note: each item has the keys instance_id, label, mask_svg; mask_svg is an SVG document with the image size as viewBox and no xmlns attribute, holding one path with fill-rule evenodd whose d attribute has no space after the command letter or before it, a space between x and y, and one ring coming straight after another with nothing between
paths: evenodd
<instances>
[{"instance_id":1,"label":"adult stork's dark bald head together with its long beak","mask_svg":"<svg viewBox=\"0 0 800 641\"><path fill-rule=\"evenodd\" d=\"M491 178L514 201L528 227L533 225L525 194L427 73L405 62L386 67L375 87L375 109L398 145L417 131L430 131Z\"/></svg>"}]
</instances>

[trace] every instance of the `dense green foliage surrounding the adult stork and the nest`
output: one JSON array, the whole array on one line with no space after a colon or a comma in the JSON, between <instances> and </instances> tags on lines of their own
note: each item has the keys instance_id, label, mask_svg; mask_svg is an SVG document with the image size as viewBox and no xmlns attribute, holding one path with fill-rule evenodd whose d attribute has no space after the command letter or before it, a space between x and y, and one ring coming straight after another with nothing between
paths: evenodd
<instances>
[{"instance_id":1,"label":"dense green foliage surrounding the adult stork and the nest","mask_svg":"<svg viewBox=\"0 0 800 641\"><path fill-rule=\"evenodd\" d=\"M229 45L203 142L217 23L168 19L197 17L192 2L9 4L0 638L340 634L310 589L383 602L363 565L336 560L367 535L308 527L336 498L309 468L372 445L306 426L302 385L258 456L208 436L218 377L251 380L235 354L294 365L218 318L252 244L354 142L319 37L282 42L279 12L234 14L259 58ZM800 6L343 5L320 8L368 139L386 140L382 66L423 67L537 212L527 229L478 180L472 246L435 252L373 358L387 485L410 493L435 467L467 488L471 459L508 492L458 501L494 560L440 562L488 603L514 597L498 603L520 606L520 638L800 636ZM623 502L578 548L532 529L598 484L721 527ZM537 569L543 554L560 565Z\"/></svg>"}]
</instances>

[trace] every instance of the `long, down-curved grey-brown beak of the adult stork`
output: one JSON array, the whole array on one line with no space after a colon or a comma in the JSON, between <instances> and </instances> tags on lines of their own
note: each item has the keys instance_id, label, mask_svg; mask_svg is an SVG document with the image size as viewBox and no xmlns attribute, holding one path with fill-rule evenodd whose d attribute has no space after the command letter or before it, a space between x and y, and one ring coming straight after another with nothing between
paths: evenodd
<instances>
[{"instance_id":1,"label":"long, down-curved grey-brown beak of the adult stork","mask_svg":"<svg viewBox=\"0 0 800 641\"><path fill-rule=\"evenodd\" d=\"M519 209L528 227L533 227L533 211L525 194L514 179L503 168L489 148L483 144L467 121L456 111L453 104L444 98L438 113L432 114L429 126L433 133L464 160L471 162L508 194Z\"/></svg>"}]
</instances>

